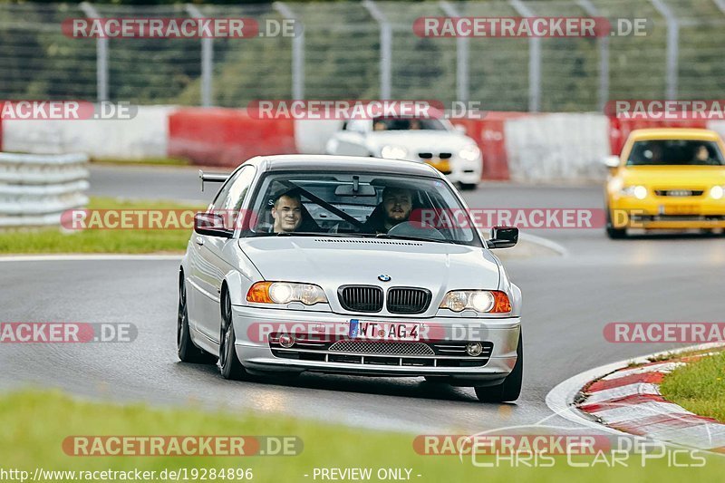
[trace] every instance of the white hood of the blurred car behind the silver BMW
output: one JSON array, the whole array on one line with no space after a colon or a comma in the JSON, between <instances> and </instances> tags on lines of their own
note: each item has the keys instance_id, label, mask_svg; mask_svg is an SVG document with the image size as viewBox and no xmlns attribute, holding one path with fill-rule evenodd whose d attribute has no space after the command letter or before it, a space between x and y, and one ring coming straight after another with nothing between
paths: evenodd
<instances>
[{"instance_id":1,"label":"white hood of the blurred car behind the silver BMW","mask_svg":"<svg viewBox=\"0 0 725 483\"><path fill-rule=\"evenodd\" d=\"M383 146L400 146L408 150L409 159L418 160L411 153L418 152L452 152L476 144L468 136L458 131L449 130L383 130L373 131L366 137L371 152L380 154Z\"/></svg>"}]
</instances>

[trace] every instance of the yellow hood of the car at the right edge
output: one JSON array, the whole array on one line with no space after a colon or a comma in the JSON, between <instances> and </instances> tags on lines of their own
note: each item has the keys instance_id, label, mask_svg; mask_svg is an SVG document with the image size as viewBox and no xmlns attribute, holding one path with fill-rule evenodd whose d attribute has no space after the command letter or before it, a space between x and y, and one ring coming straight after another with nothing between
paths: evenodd
<instances>
[{"instance_id":1,"label":"yellow hood of the car at the right edge","mask_svg":"<svg viewBox=\"0 0 725 483\"><path fill-rule=\"evenodd\" d=\"M630 166L622 170L624 185L647 188L709 188L725 185L725 167Z\"/></svg>"}]
</instances>

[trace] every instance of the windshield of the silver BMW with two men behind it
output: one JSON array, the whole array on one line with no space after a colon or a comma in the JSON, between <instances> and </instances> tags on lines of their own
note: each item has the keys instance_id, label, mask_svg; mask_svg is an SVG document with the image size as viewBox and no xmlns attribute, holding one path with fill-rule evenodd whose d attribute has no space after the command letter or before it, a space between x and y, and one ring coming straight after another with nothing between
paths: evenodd
<instances>
[{"instance_id":1,"label":"windshield of the silver BMW with two men behind it","mask_svg":"<svg viewBox=\"0 0 725 483\"><path fill-rule=\"evenodd\" d=\"M245 235L383 237L482 246L440 179L351 172L267 174Z\"/></svg>"}]
</instances>

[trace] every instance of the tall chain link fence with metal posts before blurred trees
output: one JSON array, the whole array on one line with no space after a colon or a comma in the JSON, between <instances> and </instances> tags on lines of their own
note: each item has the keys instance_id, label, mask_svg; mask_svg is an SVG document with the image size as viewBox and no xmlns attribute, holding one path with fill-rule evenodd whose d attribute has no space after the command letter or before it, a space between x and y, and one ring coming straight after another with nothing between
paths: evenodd
<instances>
[{"instance_id":1,"label":"tall chain link fence with metal posts before blurred trees","mask_svg":"<svg viewBox=\"0 0 725 483\"><path fill-rule=\"evenodd\" d=\"M75 39L72 17L252 17L296 37ZM644 36L421 38L422 16L646 18ZM725 96L725 0L488 0L266 5L0 4L0 99L243 107L259 99L479 101L601 111L612 99Z\"/></svg>"}]
</instances>

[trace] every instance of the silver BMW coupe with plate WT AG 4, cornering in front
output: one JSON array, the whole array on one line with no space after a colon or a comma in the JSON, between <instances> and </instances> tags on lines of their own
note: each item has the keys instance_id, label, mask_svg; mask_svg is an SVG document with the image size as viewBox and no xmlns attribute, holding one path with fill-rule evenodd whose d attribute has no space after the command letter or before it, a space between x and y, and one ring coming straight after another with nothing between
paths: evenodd
<instances>
[{"instance_id":1,"label":"silver BMW coupe with plate WT AG 4, cornering in front","mask_svg":"<svg viewBox=\"0 0 725 483\"><path fill-rule=\"evenodd\" d=\"M301 372L424 377L521 391L521 291L448 179L406 160L263 156L230 175L179 267L183 362L227 379Z\"/></svg>"}]
</instances>

